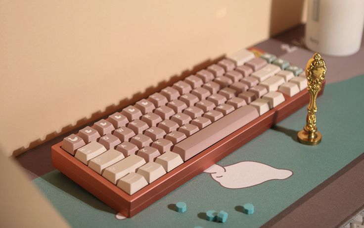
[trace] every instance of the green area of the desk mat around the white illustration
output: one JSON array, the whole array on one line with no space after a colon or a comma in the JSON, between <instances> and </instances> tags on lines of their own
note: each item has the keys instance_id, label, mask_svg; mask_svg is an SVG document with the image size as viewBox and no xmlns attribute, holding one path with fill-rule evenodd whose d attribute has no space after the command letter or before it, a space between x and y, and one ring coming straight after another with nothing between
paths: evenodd
<instances>
[{"instance_id":1,"label":"green area of the desk mat around the white illustration","mask_svg":"<svg viewBox=\"0 0 364 228\"><path fill-rule=\"evenodd\" d=\"M228 189L202 173L125 220L115 219L115 211L59 171L33 181L72 227L260 227L363 153L363 85L364 75L326 85L318 99L318 129L323 135L318 146L296 142L307 114L302 108L218 163L256 161L293 171L285 180ZM186 202L186 213L170 209L178 201ZM248 202L255 206L253 215L241 213L241 205ZM207 210L228 212L227 223L206 221Z\"/></svg>"}]
</instances>

